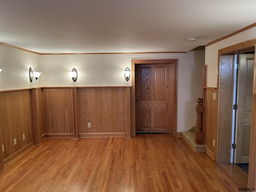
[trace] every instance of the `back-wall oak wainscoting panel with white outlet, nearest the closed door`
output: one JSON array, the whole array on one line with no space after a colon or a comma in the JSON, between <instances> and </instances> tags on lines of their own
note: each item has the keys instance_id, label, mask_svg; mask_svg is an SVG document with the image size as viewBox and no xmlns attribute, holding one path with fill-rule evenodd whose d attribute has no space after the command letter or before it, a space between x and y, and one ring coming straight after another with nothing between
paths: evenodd
<instances>
[{"instance_id":1,"label":"back-wall oak wainscoting panel with white outlet, nearest the closed door","mask_svg":"<svg viewBox=\"0 0 256 192\"><path fill-rule=\"evenodd\" d=\"M78 106L79 136L126 132L124 87L78 88Z\"/></svg>"}]
</instances>

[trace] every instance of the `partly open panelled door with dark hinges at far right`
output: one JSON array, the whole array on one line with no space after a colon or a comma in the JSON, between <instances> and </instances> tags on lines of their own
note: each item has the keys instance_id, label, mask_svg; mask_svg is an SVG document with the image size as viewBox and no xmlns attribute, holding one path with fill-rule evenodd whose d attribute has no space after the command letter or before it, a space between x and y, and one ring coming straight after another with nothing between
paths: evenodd
<instances>
[{"instance_id":1,"label":"partly open panelled door with dark hinges at far right","mask_svg":"<svg viewBox=\"0 0 256 192\"><path fill-rule=\"evenodd\" d=\"M234 162L249 163L254 54L240 54L239 57Z\"/></svg>"}]
</instances>

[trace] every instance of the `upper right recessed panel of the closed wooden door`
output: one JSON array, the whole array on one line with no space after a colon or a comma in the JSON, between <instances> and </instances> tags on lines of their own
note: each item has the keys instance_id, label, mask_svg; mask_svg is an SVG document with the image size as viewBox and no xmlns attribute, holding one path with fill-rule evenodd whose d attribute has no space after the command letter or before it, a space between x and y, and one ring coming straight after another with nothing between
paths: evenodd
<instances>
[{"instance_id":1,"label":"upper right recessed panel of the closed wooden door","mask_svg":"<svg viewBox=\"0 0 256 192\"><path fill-rule=\"evenodd\" d=\"M155 67L155 84L154 84L154 100L165 100L166 97L166 76L165 76L165 67Z\"/></svg>"}]
</instances>

